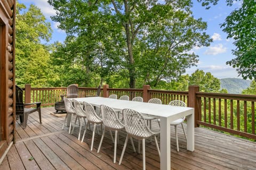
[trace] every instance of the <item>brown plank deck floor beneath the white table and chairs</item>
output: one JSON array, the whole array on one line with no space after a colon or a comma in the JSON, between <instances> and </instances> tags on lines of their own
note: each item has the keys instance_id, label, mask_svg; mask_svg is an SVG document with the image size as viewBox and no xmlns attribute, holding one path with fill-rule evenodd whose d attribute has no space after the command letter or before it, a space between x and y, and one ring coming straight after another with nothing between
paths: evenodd
<instances>
[{"instance_id":1,"label":"brown plank deck floor beneath the white table and chairs","mask_svg":"<svg viewBox=\"0 0 256 170\"><path fill-rule=\"evenodd\" d=\"M117 163L114 164L114 145L108 133L100 153L97 153L97 148L101 135L97 133L94 148L90 151L91 131L87 131L85 141L81 143L77 140L78 128L73 135L68 134L67 127L61 130L65 116L54 116L51 114L54 111L53 107L42 109L42 124L38 123L37 113L30 114L24 130L17 123L16 143L7 153L0 169L142 169L142 155L133 153L130 143L122 165L118 165L125 132L120 134ZM157 126L155 123L154 128ZM177 152L173 129L171 169L256 169L256 142L196 128L195 151L190 152L186 150L185 137L179 129L180 151ZM135 140L134 144L138 146ZM146 146L146 168L159 169L154 140L147 140Z\"/></svg>"}]
</instances>

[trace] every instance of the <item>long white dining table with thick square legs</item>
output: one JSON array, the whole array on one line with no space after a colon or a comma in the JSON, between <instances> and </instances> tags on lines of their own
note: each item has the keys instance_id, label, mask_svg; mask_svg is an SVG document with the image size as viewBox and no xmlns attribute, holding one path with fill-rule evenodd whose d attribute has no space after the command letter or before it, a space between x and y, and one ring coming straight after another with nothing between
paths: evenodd
<instances>
[{"instance_id":1,"label":"long white dining table with thick square legs","mask_svg":"<svg viewBox=\"0 0 256 170\"><path fill-rule=\"evenodd\" d=\"M138 101L118 100L105 97L85 97L75 98L79 102L83 101L90 103L92 106L100 107L100 105L107 105L115 109L115 111L122 111L124 108L133 109L142 114L147 114L160 118L160 168L161 170L171 169L171 126L172 121L186 116L187 118L187 150L194 151L195 148L195 134L194 134L194 108L179 107L170 105L151 104Z\"/></svg>"}]
</instances>

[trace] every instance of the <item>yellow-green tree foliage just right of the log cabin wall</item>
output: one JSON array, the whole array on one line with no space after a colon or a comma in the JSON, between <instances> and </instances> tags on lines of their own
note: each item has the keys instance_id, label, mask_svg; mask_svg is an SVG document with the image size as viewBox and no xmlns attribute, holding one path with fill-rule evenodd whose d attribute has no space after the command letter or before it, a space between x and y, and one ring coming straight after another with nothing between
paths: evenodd
<instances>
[{"instance_id":1,"label":"yellow-green tree foliage just right of the log cabin wall","mask_svg":"<svg viewBox=\"0 0 256 170\"><path fill-rule=\"evenodd\" d=\"M38 7L17 3L16 15L16 43L15 43L15 80L19 86L47 86L47 79L51 79L49 47L42 45L41 40L51 38L50 23Z\"/></svg>"}]
</instances>

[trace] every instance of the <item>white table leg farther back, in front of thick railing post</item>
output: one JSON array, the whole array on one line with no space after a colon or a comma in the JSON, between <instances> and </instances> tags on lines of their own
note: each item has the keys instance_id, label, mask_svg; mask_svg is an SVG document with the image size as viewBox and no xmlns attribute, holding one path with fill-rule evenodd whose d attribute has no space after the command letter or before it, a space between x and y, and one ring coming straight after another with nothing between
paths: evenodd
<instances>
[{"instance_id":1,"label":"white table leg farther back, in front of thick railing post","mask_svg":"<svg viewBox=\"0 0 256 170\"><path fill-rule=\"evenodd\" d=\"M187 116L187 150L194 151L195 149L195 122L193 114Z\"/></svg>"}]
</instances>

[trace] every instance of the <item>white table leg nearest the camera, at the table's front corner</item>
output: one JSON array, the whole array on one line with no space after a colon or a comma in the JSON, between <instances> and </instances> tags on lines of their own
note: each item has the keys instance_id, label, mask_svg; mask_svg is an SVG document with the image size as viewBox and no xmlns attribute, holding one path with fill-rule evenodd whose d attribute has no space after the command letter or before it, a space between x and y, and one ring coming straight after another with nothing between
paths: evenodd
<instances>
[{"instance_id":1,"label":"white table leg nearest the camera, at the table's front corner","mask_svg":"<svg viewBox=\"0 0 256 170\"><path fill-rule=\"evenodd\" d=\"M161 117L160 124L160 169L171 169L171 121Z\"/></svg>"}]
</instances>

